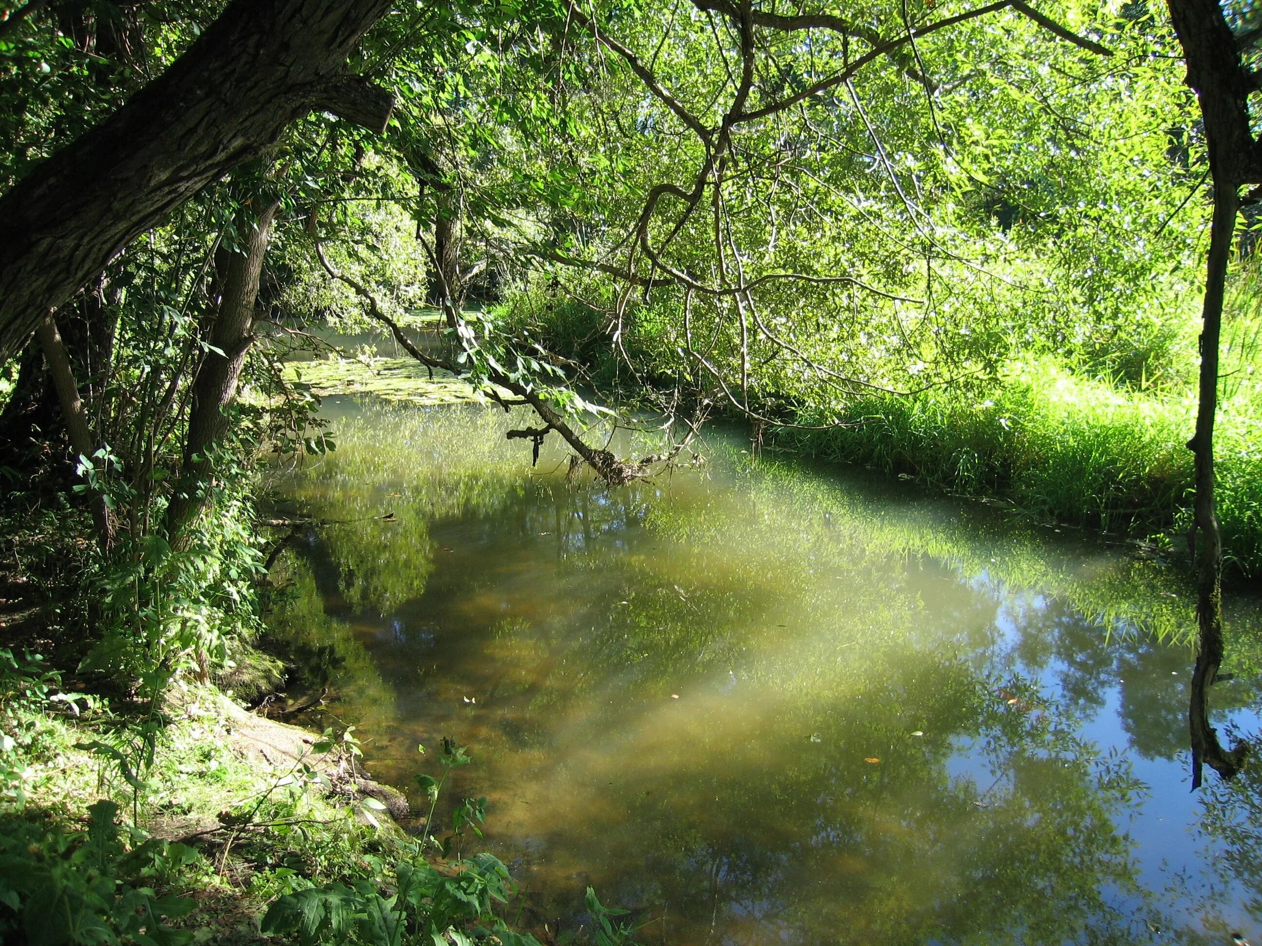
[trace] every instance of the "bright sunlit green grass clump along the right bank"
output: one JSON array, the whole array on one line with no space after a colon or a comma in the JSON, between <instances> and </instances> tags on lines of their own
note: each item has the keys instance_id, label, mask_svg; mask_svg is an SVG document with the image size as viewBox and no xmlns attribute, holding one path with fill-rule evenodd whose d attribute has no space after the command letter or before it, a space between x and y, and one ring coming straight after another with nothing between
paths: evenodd
<instances>
[{"instance_id":1,"label":"bright sunlit green grass clump along the right bank","mask_svg":"<svg viewBox=\"0 0 1262 946\"><path fill-rule=\"evenodd\" d=\"M1262 564L1262 412L1230 399L1219 418L1218 502L1229 561ZM1156 537L1185 528L1186 448L1196 405L1074 376L1044 359L1013 366L988 396L941 387L805 409L779 443L829 460L901 473L969 496L1010 499L1042 521Z\"/></svg>"}]
</instances>

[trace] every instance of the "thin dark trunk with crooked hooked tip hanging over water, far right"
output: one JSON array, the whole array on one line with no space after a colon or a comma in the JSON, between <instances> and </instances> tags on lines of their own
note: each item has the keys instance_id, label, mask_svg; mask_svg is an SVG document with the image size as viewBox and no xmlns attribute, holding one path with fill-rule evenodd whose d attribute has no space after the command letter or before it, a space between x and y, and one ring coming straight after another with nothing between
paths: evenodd
<instances>
[{"instance_id":1,"label":"thin dark trunk with crooked hooked tip hanging over water, far right","mask_svg":"<svg viewBox=\"0 0 1262 946\"><path fill-rule=\"evenodd\" d=\"M1209 687L1223 662L1223 540L1214 507L1214 419L1218 412L1218 358L1223 323L1223 294L1239 212L1239 190L1262 182L1262 145L1249 127L1248 96L1254 86L1244 67L1218 0L1167 0L1175 32L1188 62L1188 85L1196 92L1205 122L1214 218L1205 275L1200 334L1200 401L1196 433L1188 443L1195 458L1193 542L1196 555L1196 665L1193 671L1188 721L1191 735L1193 787L1201 783L1201 767L1224 778L1243 762L1247 743L1223 748L1210 725Z\"/></svg>"}]
</instances>

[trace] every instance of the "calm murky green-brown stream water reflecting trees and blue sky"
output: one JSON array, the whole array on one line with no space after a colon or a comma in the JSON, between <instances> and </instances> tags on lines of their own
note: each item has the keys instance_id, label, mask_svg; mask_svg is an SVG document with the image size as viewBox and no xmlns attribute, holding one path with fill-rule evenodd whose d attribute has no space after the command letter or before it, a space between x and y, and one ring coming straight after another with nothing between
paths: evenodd
<instances>
[{"instance_id":1,"label":"calm murky green-brown stream water reflecting trees and blue sky","mask_svg":"<svg viewBox=\"0 0 1262 946\"><path fill-rule=\"evenodd\" d=\"M331 414L273 623L379 778L469 747L444 792L487 797L526 926L591 884L647 943L1262 942L1262 768L1190 792L1170 570L736 440L610 489L531 469L525 418Z\"/></svg>"}]
</instances>

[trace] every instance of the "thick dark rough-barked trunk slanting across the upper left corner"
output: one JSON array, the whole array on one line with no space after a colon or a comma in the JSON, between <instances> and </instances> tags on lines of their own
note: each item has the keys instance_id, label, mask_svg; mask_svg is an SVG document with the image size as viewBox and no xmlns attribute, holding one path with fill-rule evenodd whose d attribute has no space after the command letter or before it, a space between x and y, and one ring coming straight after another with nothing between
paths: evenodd
<instances>
[{"instance_id":1,"label":"thick dark rough-barked trunk slanting across the upper left corner","mask_svg":"<svg viewBox=\"0 0 1262 946\"><path fill-rule=\"evenodd\" d=\"M133 238L312 108L382 130L346 59L390 0L232 0L158 79L0 198L0 362Z\"/></svg>"}]
</instances>

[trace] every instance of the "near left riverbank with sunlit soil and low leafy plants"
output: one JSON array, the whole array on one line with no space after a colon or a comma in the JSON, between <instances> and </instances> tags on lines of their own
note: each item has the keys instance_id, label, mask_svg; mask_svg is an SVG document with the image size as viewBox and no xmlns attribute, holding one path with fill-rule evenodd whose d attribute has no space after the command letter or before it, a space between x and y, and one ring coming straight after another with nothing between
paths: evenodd
<instances>
[{"instance_id":1,"label":"near left riverbank with sunlit soil and low leafy plants","mask_svg":"<svg viewBox=\"0 0 1262 946\"><path fill-rule=\"evenodd\" d=\"M535 942L495 913L504 865L430 841L435 809L418 817L374 782L352 729L289 725L221 689L275 657L239 645L218 686L183 676L151 701L82 672L90 642L63 629L90 587L80 518L5 522L0 941ZM425 773L458 752L418 754L415 773L438 786Z\"/></svg>"}]
</instances>

